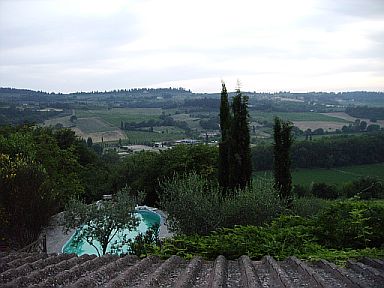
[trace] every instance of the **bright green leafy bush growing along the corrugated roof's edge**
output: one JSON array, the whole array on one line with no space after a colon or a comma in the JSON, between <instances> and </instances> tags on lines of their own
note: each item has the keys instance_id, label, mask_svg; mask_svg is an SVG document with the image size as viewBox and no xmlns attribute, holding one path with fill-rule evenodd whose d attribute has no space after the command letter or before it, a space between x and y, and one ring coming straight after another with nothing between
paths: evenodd
<instances>
[{"instance_id":1,"label":"bright green leafy bush growing along the corrugated roof's edge","mask_svg":"<svg viewBox=\"0 0 384 288\"><path fill-rule=\"evenodd\" d=\"M210 260L219 255L227 259L248 255L253 260L259 260L264 255L271 255L278 260L294 255L301 259L327 259L337 263L353 257L384 256L384 249L377 248L327 249L316 243L314 229L316 227L310 220L281 216L266 226L236 226L220 228L206 236L176 236L165 240L161 247L152 247L152 254L166 258L171 255L185 258L200 255Z\"/></svg>"}]
</instances>

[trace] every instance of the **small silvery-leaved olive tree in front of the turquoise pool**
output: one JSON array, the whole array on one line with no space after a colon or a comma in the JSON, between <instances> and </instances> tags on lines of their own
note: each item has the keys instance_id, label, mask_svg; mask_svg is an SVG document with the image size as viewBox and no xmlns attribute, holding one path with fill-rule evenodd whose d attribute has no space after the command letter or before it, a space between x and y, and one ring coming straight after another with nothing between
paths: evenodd
<instances>
[{"instance_id":1,"label":"small silvery-leaved olive tree in front of the turquoise pool","mask_svg":"<svg viewBox=\"0 0 384 288\"><path fill-rule=\"evenodd\" d=\"M141 198L141 197L138 197ZM139 219L134 214L135 202L129 189L120 190L114 200L85 204L78 200L72 200L64 212L64 229L79 228L73 244L78 245L86 241L94 247L97 254L104 255L108 244L113 237L123 230L134 230L139 225ZM96 243L99 242L101 251Z\"/></svg>"}]
</instances>

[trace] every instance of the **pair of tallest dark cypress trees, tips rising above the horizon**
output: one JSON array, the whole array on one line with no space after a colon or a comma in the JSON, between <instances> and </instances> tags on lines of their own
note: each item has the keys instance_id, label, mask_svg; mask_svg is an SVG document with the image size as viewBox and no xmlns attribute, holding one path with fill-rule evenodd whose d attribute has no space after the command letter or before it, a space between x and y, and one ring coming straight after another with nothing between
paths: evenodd
<instances>
[{"instance_id":1,"label":"pair of tallest dark cypress trees, tips rising above the horizon","mask_svg":"<svg viewBox=\"0 0 384 288\"><path fill-rule=\"evenodd\" d=\"M243 189L251 182L252 162L249 135L248 97L240 89L232 100L223 84L220 106L222 141L219 146L219 183L223 191Z\"/></svg>"}]
</instances>

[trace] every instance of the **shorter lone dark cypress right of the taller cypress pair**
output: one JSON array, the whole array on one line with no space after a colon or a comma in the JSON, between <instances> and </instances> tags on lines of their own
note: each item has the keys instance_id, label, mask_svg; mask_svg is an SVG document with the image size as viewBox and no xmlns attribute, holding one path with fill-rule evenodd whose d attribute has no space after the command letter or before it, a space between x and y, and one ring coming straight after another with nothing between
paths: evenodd
<instances>
[{"instance_id":1,"label":"shorter lone dark cypress right of the taller cypress pair","mask_svg":"<svg viewBox=\"0 0 384 288\"><path fill-rule=\"evenodd\" d=\"M273 126L274 137L274 178L275 187L279 192L280 199L285 201L287 207L292 206L292 176L290 148L292 139L292 123L275 118Z\"/></svg>"}]
</instances>

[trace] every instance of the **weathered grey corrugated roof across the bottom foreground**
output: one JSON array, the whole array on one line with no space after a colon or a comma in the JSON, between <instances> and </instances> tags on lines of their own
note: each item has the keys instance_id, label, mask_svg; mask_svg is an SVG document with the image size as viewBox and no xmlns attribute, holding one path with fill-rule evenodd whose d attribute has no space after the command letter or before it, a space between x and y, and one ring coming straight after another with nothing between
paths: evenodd
<instances>
[{"instance_id":1,"label":"weathered grey corrugated roof across the bottom foreground","mask_svg":"<svg viewBox=\"0 0 384 288\"><path fill-rule=\"evenodd\" d=\"M215 261L178 256L96 257L13 253L0 257L0 287L384 287L384 262L364 258L340 268L327 261L248 256Z\"/></svg>"}]
</instances>

